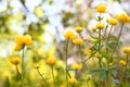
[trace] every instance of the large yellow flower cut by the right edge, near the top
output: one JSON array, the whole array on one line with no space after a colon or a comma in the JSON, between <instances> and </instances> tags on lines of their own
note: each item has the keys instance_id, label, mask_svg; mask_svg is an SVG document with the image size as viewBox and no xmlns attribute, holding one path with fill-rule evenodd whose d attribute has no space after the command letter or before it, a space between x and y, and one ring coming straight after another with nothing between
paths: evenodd
<instances>
[{"instance_id":1,"label":"large yellow flower cut by the right edge, near the top","mask_svg":"<svg viewBox=\"0 0 130 87\"><path fill-rule=\"evenodd\" d=\"M117 20L123 24L129 23L130 22L130 16L128 16L127 14L122 13L117 15Z\"/></svg>"}]
</instances>

